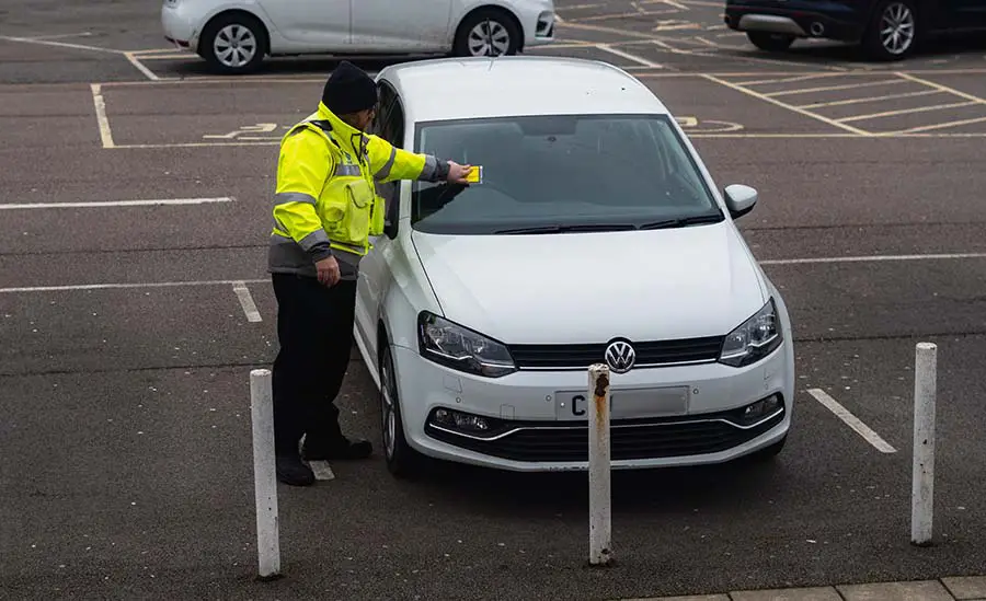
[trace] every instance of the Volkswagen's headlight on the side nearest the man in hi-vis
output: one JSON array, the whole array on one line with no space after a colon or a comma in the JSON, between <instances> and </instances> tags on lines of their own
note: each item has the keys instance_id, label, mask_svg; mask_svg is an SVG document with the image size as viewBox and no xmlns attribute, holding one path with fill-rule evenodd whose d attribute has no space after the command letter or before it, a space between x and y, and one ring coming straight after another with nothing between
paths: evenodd
<instances>
[{"instance_id":1,"label":"Volkswagen's headlight on the side nearest the man in hi-vis","mask_svg":"<svg viewBox=\"0 0 986 601\"><path fill-rule=\"evenodd\" d=\"M423 357L459 371L500 378L517 370L504 345L427 311L417 316L417 344Z\"/></svg>"}]
</instances>

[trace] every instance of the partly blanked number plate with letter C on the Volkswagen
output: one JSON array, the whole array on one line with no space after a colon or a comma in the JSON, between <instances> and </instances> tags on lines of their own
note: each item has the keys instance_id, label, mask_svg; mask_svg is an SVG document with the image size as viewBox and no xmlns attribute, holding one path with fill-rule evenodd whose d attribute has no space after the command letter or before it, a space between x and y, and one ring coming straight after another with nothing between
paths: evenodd
<instances>
[{"instance_id":1,"label":"partly blanked number plate with letter C on the Volkswagen","mask_svg":"<svg viewBox=\"0 0 986 601\"><path fill-rule=\"evenodd\" d=\"M688 413L688 386L621 389L609 394L609 418L666 417ZM560 420L587 420L592 397L586 391L554 393L554 415Z\"/></svg>"}]
</instances>

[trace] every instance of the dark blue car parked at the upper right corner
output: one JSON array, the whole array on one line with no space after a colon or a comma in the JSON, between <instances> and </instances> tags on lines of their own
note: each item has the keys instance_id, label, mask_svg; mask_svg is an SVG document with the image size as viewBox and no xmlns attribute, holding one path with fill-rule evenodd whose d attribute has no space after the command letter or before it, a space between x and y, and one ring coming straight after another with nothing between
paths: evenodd
<instances>
[{"instance_id":1,"label":"dark blue car parked at the upper right corner","mask_svg":"<svg viewBox=\"0 0 986 601\"><path fill-rule=\"evenodd\" d=\"M931 36L986 32L986 0L726 0L724 19L764 50L817 37L894 60Z\"/></svg>"}]
</instances>

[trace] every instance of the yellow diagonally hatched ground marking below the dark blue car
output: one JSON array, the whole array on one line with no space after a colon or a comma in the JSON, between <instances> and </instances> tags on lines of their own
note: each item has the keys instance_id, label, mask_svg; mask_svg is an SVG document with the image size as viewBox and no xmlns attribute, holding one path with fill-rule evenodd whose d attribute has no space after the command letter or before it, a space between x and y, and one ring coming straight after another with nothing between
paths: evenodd
<instances>
[{"instance_id":1,"label":"yellow diagonally hatched ground marking below the dark blue car","mask_svg":"<svg viewBox=\"0 0 986 601\"><path fill-rule=\"evenodd\" d=\"M979 72L951 72L974 81ZM967 136L984 131L986 97L925 72L722 77L719 81L773 106L858 136Z\"/></svg>"}]
</instances>

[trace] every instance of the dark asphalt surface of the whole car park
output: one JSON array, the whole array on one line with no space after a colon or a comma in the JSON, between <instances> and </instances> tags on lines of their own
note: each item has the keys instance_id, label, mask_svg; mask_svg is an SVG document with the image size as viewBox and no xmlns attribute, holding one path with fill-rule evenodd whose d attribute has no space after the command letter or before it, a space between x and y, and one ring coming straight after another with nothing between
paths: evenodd
<instances>
[{"instance_id":1,"label":"dark asphalt surface of the whole car park","mask_svg":"<svg viewBox=\"0 0 986 601\"><path fill-rule=\"evenodd\" d=\"M215 78L161 44L157 2L0 10L0 205L226 200L0 210L0 598L615 599L984 571L986 50L768 57L715 3L674 4L560 2L565 46L538 54L632 69L720 186L760 192L742 226L794 321L788 447L771 465L616 474L604 570L584 565L584 475L333 464L332 482L280 488L287 577L266 583L248 377L276 352L274 140L334 62ZM919 340L940 345L929 548L909 545ZM379 446L358 360L340 404Z\"/></svg>"}]
</instances>

